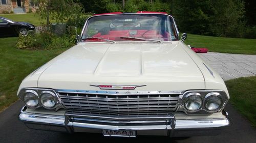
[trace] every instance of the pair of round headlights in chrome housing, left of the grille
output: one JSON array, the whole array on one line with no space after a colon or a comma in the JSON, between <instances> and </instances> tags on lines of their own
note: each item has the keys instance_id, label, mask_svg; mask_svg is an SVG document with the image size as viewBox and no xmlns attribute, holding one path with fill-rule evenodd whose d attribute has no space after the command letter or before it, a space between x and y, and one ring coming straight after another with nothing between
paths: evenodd
<instances>
[{"instance_id":1,"label":"pair of round headlights in chrome housing, left of the grille","mask_svg":"<svg viewBox=\"0 0 256 143\"><path fill-rule=\"evenodd\" d=\"M50 89L22 89L18 96L29 108L55 109L60 106L56 93Z\"/></svg>"}]
</instances>

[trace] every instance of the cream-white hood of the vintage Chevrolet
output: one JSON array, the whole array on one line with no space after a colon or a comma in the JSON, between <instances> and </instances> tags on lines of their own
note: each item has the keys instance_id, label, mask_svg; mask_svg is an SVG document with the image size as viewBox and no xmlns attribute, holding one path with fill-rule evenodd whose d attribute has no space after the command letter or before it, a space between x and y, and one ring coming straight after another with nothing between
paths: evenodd
<instances>
[{"instance_id":1,"label":"cream-white hood of the vintage Chevrolet","mask_svg":"<svg viewBox=\"0 0 256 143\"><path fill-rule=\"evenodd\" d=\"M40 88L99 90L90 84L146 85L138 89L167 91L205 88L200 69L178 42L79 43L47 65L38 79Z\"/></svg>"}]
</instances>

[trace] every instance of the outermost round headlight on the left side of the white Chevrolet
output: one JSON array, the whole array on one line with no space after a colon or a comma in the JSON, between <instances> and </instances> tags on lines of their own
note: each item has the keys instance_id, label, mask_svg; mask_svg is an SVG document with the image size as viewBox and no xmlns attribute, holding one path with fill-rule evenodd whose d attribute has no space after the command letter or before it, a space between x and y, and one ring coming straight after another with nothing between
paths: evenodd
<instances>
[{"instance_id":1,"label":"outermost round headlight on the left side of the white Chevrolet","mask_svg":"<svg viewBox=\"0 0 256 143\"><path fill-rule=\"evenodd\" d=\"M35 91L27 91L23 100L28 107L36 107L38 105L38 95Z\"/></svg>"}]
</instances>

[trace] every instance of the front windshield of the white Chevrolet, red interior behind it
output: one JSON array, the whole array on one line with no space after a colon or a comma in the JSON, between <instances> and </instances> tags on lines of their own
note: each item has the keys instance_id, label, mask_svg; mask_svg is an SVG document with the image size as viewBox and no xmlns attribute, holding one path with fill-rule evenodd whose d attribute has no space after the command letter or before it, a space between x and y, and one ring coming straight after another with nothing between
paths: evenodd
<instances>
[{"instance_id":1,"label":"front windshield of the white Chevrolet, red interior behind it","mask_svg":"<svg viewBox=\"0 0 256 143\"><path fill-rule=\"evenodd\" d=\"M120 14L90 18L81 39L82 42L177 41L178 33L168 15Z\"/></svg>"}]
</instances>

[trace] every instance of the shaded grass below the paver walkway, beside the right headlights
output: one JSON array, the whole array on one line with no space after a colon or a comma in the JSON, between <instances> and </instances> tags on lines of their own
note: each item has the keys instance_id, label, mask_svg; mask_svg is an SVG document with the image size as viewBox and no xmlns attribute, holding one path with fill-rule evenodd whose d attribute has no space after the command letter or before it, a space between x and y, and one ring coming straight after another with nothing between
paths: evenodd
<instances>
[{"instance_id":1,"label":"shaded grass below the paver walkway, beside the right headlights","mask_svg":"<svg viewBox=\"0 0 256 143\"><path fill-rule=\"evenodd\" d=\"M256 76L226 81L231 104L256 127Z\"/></svg>"}]
</instances>

